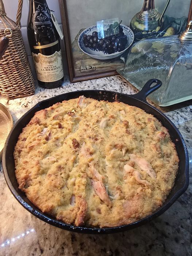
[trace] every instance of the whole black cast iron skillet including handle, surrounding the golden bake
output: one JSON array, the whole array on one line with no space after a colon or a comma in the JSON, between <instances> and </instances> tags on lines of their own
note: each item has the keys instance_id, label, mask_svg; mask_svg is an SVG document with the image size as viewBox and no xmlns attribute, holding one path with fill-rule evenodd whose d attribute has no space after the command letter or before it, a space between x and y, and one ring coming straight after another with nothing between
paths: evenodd
<instances>
[{"instance_id":1,"label":"whole black cast iron skillet including handle, surrounding the golden bake","mask_svg":"<svg viewBox=\"0 0 192 256\"><path fill-rule=\"evenodd\" d=\"M156 84L153 87L150 87L153 83ZM143 89L135 95L126 95L123 93L99 90L69 92L55 96L51 99L43 100L42 102L39 102L34 107L32 107L31 110L29 110L19 119L19 121L11 130L7 141L5 142L3 151L3 172L5 180L9 189L18 200L18 202L23 205L23 207L25 207L30 213L32 213L39 219L50 223L51 225L70 231L89 234L107 234L133 229L146 222L149 222L151 219L164 213L164 211L166 211L178 199L178 197L185 192L185 190L187 190L187 187L189 185L189 160L187 147L185 145L183 137L181 136L176 126L161 111L157 110L155 107L151 106L149 103L146 102L147 95L160 88L161 84L162 83L160 80L151 79L145 84ZM115 100L118 100L131 106L139 107L145 110L147 113L154 115L162 123L162 125L168 129L170 137L176 145L176 150L180 159L179 169L173 189L170 191L170 194L168 195L163 205L159 207L153 214L150 214L139 221L135 221L134 223L112 228L77 227L74 225L66 224L62 221L57 221L53 217L42 213L42 211L35 207L27 199L26 195L19 190L18 183L15 177L15 163L13 152L15 144L18 140L18 136L21 133L23 127L25 127L29 123L35 112L50 107L57 102L62 102L63 100L78 98L80 95L84 95L85 97L90 97L97 100L108 100L109 102L114 102Z\"/></svg>"}]
</instances>

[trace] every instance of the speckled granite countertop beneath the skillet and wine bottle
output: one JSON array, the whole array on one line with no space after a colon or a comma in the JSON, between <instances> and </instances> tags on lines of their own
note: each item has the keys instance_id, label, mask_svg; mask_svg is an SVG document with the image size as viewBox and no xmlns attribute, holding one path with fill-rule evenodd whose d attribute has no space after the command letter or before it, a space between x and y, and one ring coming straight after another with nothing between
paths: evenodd
<instances>
[{"instance_id":1,"label":"speckled granite countertop beneath the skillet and wine bottle","mask_svg":"<svg viewBox=\"0 0 192 256\"><path fill-rule=\"evenodd\" d=\"M41 100L65 92L104 89L127 94L137 92L120 76L42 89L15 100L0 97L14 122ZM178 127L187 144L192 171L192 100L160 108ZM137 229L108 235L88 235L55 228L25 210L9 191L0 164L0 255L192 255L192 180L188 190L160 217Z\"/></svg>"}]
</instances>

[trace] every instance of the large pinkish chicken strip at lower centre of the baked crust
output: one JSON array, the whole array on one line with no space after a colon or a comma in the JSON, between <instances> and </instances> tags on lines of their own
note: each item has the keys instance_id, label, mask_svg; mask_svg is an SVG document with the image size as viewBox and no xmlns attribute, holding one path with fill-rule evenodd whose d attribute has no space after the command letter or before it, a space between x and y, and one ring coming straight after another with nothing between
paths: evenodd
<instances>
[{"instance_id":1,"label":"large pinkish chicken strip at lower centre of the baked crust","mask_svg":"<svg viewBox=\"0 0 192 256\"><path fill-rule=\"evenodd\" d=\"M92 180L92 186L95 190L95 193L99 196L101 201L103 201L105 203L105 205L107 205L109 208L111 208L111 206L112 206L111 199L110 199L109 195L107 194L107 190L106 190L104 184L100 180L99 181Z\"/></svg>"}]
</instances>

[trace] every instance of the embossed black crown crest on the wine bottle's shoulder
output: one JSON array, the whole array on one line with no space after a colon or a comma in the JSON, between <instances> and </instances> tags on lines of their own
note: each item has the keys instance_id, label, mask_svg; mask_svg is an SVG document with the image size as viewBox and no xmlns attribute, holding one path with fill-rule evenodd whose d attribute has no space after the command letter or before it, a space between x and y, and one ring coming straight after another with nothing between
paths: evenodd
<instances>
[{"instance_id":1,"label":"embossed black crown crest on the wine bottle's shoulder","mask_svg":"<svg viewBox=\"0 0 192 256\"><path fill-rule=\"evenodd\" d=\"M51 23L50 15L43 10L43 7L39 4L37 11L32 16L32 23L34 30L37 34L46 37L52 32L53 25Z\"/></svg>"}]
</instances>

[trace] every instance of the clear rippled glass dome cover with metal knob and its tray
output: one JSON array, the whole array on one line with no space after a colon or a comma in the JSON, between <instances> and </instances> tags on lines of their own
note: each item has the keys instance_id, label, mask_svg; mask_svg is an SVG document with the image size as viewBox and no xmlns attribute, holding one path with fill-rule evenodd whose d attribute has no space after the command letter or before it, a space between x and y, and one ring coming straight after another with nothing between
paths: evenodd
<instances>
[{"instance_id":1,"label":"clear rippled glass dome cover with metal knob and its tray","mask_svg":"<svg viewBox=\"0 0 192 256\"><path fill-rule=\"evenodd\" d=\"M139 90L149 79L161 80L161 88L149 96L159 106L192 99L192 21L179 36L135 43L117 71Z\"/></svg>"}]
</instances>

